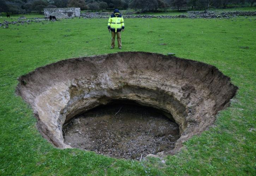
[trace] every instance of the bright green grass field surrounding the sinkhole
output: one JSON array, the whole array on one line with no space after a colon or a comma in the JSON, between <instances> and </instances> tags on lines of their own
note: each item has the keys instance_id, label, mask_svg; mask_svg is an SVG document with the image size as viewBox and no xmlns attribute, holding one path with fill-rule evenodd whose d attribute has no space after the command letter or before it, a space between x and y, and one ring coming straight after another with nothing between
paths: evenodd
<instances>
[{"instance_id":1,"label":"bright green grass field surrounding the sinkhole","mask_svg":"<svg viewBox=\"0 0 256 176\"><path fill-rule=\"evenodd\" d=\"M110 50L107 19L10 25L0 29L0 38L0 175L255 175L255 17L125 19L121 51L173 52L215 65L239 87L214 126L166 157L165 164L157 158L137 162L56 149L41 137L32 109L14 93L17 77L37 67L119 52Z\"/></svg>"}]
</instances>

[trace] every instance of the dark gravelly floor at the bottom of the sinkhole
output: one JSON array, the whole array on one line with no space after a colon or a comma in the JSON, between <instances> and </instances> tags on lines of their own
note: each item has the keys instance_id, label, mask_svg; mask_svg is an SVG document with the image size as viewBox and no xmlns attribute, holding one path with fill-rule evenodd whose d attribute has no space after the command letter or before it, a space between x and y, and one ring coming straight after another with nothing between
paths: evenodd
<instances>
[{"instance_id":1,"label":"dark gravelly floor at the bottom of the sinkhole","mask_svg":"<svg viewBox=\"0 0 256 176\"><path fill-rule=\"evenodd\" d=\"M179 126L154 108L114 104L94 108L64 128L64 143L115 158L140 159L172 150Z\"/></svg>"}]
</instances>

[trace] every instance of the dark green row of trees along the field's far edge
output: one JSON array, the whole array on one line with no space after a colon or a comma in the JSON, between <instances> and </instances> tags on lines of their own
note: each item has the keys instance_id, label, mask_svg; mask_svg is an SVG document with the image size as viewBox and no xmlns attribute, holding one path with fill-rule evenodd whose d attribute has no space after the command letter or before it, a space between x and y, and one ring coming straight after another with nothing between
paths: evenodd
<instances>
[{"instance_id":1,"label":"dark green row of trees along the field's far edge","mask_svg":"<svg viewBox=\"0 0 256 176\"><path fill-rule=\"evenodd\" d=\"M226 8L228 5L241 5L249 3L253 6L256 0L0 0L0 12L13 14L30 13L44 8L80 7L81 10L106 10L128 7L139 11L157 11L167 8L204 9L209 7Z\"/></svg>"}]
</instances>

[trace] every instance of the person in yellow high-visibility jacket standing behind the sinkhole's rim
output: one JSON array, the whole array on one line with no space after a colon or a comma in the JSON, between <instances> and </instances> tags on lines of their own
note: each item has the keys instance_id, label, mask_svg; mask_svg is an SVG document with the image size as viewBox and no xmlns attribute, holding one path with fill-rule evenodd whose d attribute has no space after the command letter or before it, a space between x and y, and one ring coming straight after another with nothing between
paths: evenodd
<instances>
[{"instance_id":1,"label":"person in yellow high-visibility jacket standing behind the sinkhole's rim","mask_svg":"<svg viewBox=\"0 0 256 176\"><path fill-rule=\"evenodd\" d=\"M111 49L115 46L115 35L117 35L118 48L122 49L121 31L124 31L124 19L118 9L108 19L108 31L112 33Z\"/></svg>"}]
</instances>

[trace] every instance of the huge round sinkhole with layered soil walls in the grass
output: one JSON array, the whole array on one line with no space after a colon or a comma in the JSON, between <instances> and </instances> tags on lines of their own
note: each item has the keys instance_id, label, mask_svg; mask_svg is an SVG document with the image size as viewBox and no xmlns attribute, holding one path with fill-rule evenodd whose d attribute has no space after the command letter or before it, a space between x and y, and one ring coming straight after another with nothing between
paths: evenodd
<instances>
[{"instance_id":1,"label":"huge round sinkhole with layered soil walls in the grass","mask_svg":"<svg viewBox=\"0 0 256 176\"><path fill-rule=\"evenodd\" d=\"M18 81L54 146L133 159L179 151L237 91L212 65L147 52L67 59Z\"/></svg>"}]
</instances>

